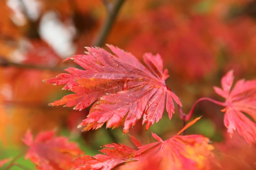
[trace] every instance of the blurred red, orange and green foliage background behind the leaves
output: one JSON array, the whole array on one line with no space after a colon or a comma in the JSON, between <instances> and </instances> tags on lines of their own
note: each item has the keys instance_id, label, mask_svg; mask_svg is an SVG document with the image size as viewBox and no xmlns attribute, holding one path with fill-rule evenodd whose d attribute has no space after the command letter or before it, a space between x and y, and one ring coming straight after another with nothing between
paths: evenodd
<instances>
[{"instance_id":1,"label":"blurred red, orange and green foliage background behind the leaves","mask_svg":"<svg viewBox=\"0 0 256 170\"><path fill-rule=\"evenodd\" d=\"M130 143L122 128L81 132L77 125L89 109L48 106L70 92L42 82L64 68L77 67L62 61L93 44L106 15L101 0L0 0L0 159L15 157L26 148L21 138L28 128L34 134L58 129L88 155L106 143ZM220 86L228 70L234 70L235 80L255 78L256 1L126 0L106 43L140 60L145 52L159 53L170 74L166 83L188 113L200 97L223 101L212 87ZM194 117L203 118L187 134L203 134L213 141L216 153L234 156L219 154L224 169L253 167L256 149L236 134L232 139L227 135L220 110L200 102ZM153 141L150 131L167 139L182 128L178 113L171 122L164 113L147 132L141 124L130 134L144 144ZM19 161L34 168L24 157Z\"/></svg>"}]
</instances>

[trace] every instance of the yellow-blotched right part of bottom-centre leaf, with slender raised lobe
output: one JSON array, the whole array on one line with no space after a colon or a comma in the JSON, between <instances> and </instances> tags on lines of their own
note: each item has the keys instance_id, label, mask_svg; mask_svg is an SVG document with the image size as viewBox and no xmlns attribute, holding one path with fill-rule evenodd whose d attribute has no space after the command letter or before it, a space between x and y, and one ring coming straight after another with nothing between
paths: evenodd
<instances>
[{"instance_id":1,"label":"yellow-blotched right part of bottom-centre leaf, with slender raised lobe","mask_svg":"<svg viewBox=\"0 0 256 170\"><path fill-rule=\"evenodd\" d=\"M154 155L158 169L205 169L209 163L209 156L213 156L211 151L214 149L213 145L208 144L209 138L203 135L179 136L200 118L192 120L177 135L165 141L152 133L158 142L139 147L133 155L133 160L151 160L150 158Z\"/></svg>"}]
</instances>

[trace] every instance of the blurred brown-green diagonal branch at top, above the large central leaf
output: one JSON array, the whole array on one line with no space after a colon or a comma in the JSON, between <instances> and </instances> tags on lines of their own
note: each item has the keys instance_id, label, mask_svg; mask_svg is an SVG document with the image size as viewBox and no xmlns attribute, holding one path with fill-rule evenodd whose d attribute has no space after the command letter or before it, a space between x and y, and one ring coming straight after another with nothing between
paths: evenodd
<instances>
[{"instance_id":1,"label":"blurred brown-green diagonal branch at top, above the large central leaf","mask_svg":"<svg viewBox=\"0 0 256 170\"><path fill-rule=\"evenodd\" d=\"M116 19L118 11L124 2L125 2L125 0L116 0L114 2L114 4L111 4L112 5L111 8L109 7L110 4L108 6L106 6L108 9L108 16L107 16L106 21L103 23L103 25L98 33L98 36L94 39L93 46L101 47L104 44L104 42L111 30L111 27ZM108 2L106 2L106 3L108 3Z\"/></svg>"}]
</instances>

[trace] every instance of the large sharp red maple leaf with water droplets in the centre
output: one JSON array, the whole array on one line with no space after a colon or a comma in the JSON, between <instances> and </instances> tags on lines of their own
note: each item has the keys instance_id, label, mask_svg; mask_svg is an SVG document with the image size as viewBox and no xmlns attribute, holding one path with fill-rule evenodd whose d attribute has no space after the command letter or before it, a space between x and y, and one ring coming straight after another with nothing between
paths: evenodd
<instances>
[{"instance_id":1,"label":"large sharp red maple leaf with water droplets in the centre","mask_svg":"<svg viewBox=\"0 0 256 170\"><path fill-rule=\"evenodd\" d=\"M55 85L64 85L65 90L75 92L64 96L51 106L75 106L81 110L97 100L94 111L80 123L84 130L97 129L107 122L107 127L123 125L124 134L143 115L146 130L162 119L165 100L169 118L174 113L174 102L181 106L179 98L165 85L169 77L163 71L159 54L145 53L146 68L136 57L119 48L108 45L117 56L100 48L89 48L87 55L77 55L73 59L85 70L68 68L70 74L60 74L45 80Z\"/></svg>"}]
</instances>

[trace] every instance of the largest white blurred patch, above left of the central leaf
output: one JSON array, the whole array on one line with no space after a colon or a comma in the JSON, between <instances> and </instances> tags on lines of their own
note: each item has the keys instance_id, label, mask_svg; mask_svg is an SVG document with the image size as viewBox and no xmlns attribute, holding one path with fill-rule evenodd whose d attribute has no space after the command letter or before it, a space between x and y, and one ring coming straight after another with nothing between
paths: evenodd
<instances>
[{"instance_id":1,"label":"largest white blurred patch, above left of the central leaf","mask_svg":"<svg viewBox=\"0 0 256 170\"><path fill-rule=\"evenodd\" d=\"M74 33L69 31L53 11L46 12L39 24L39 34L62 58L74 55Z\"/></svg>"}]
</instances>

